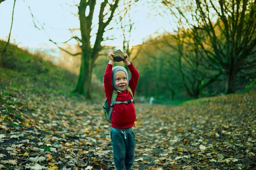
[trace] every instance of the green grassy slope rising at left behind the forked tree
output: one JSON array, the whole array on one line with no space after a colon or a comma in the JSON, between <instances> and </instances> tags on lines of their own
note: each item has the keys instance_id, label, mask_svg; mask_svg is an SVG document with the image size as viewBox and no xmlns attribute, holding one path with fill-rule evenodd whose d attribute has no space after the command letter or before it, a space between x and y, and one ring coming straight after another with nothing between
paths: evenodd
<instances>
[{"instance_id":1,"label":"green grassy slope rising at left behind the forked tree","mask_svg":"<svg viewBox=\"0 0 256 170\"><path fill-rule=\"evenodd\" d=\"M5 44L5 41L0 40L0 49L3 49ZM40 53L32 55L27 50L11 44L0 67L1 95L17 90L44 93L52 97L54 94L70 95L76 86L78 76L43 58Z\"/></svg>"}]
</instances>

